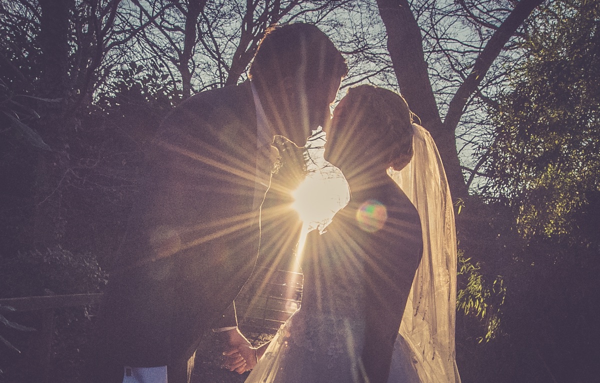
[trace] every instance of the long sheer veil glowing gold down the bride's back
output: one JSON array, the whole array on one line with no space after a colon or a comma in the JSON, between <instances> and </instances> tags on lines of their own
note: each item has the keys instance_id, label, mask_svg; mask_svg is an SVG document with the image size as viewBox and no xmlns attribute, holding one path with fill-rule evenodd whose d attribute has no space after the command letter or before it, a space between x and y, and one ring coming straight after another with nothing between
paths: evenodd
<instances>
[{"instance_id":1,"label":"long sheer veil glowing gold down the bride's back","mask_svg":"<svg viewBox=\"0 0 600 383\"><path fill-rule=\"evenodd\" d=\"M413 129L412 160L389 175L419 212L424 247L400 325L397 346L403 352L395 349L394 354L412 358L421 382L460 383L454 345L457 243L452 198L433 138L416 123ZM401 383L395 381L394 364L388 383Z\"/></svg>"}]
</instances>

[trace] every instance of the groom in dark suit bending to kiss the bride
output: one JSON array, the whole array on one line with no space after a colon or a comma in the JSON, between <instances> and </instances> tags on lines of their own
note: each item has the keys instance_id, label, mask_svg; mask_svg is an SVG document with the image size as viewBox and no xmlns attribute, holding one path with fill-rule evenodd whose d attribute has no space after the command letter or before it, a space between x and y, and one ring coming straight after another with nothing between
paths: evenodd
<instances>
[{"instance_id":1,"label":"groom in dark suit bending to kiss the bride","mask_svg":"<svg viewBox=\"0 0 600 383\"><path fill-rule=\"evenodd\" d=\"M188 381L211 328L250 345L232 302L257 258L272 140L304 146L329 123L346 72L316 26L274 26L249 82L194 95L166 117L101 307L95 381L166 383L167 370L169 383Z\"/></svg>"}]
</instances>

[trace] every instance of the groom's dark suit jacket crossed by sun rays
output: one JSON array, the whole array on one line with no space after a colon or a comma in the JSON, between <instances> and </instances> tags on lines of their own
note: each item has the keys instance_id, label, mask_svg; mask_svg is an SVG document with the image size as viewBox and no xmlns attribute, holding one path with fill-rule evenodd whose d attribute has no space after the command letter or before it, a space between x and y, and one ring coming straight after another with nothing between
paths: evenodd
<instances>
[{"instance_id":1,"label":"groom's dark suit jacket crossed by sun rays","mask_svg":"<svg viewBox=\"0 0 600 383\"><path fill-rule=\"evenodd\" d=\"M249 83L194 95L162 123L103 303L118 363L179 363L204 331L236 325L223 313L256 262L270 181L258 146Z\"/></svg>"}]
</instances>

